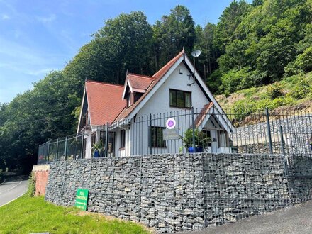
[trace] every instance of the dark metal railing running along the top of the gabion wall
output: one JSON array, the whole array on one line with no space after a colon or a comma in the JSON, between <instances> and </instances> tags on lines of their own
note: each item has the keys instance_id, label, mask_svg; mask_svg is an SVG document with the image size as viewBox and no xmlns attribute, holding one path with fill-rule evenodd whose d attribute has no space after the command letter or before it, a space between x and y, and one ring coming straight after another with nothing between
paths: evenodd
<instances>
[{"instance_id":1,"label":"dark metal railing running along the top of the gabion wall","mask_svg":"<svg viewBox=\"0 0 312 234\"><path fill-rule=\"evenodd\" d=\"M176 126L167 130L167 121ZM38 164L89 157L121 157L179 152L310 154L312 115L302 111L245 117L211 108L137 116L39 146ZM94 153L98 151L97 153Z\"/></svg>"}]
</instances>

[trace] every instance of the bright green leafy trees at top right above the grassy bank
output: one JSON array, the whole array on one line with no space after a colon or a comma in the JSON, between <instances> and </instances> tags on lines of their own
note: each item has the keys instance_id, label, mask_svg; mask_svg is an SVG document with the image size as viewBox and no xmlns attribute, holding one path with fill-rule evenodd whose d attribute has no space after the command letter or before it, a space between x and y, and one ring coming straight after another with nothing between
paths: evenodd
<instances>
[{"instance_id":1,"label":"bright green leafy trees at top right above the grassy bank","mask_svg":"<svg viewBox=\"0 0 312 234\"><path fill-rule=\"evenodd\" d=\"M213 33L225 95L311 71L312 4L308 0L233 1ZM240 70L249 77L240 83ZM233 77L233 78L232 78Z\"/></svg>"}]
</instances>

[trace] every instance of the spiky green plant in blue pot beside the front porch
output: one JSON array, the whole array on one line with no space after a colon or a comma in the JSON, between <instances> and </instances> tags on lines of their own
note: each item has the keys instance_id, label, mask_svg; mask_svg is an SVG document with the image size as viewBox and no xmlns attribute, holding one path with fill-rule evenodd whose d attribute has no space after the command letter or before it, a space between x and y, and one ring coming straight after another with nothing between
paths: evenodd
<instances>
[{"instance_id":1,"label":"spiky green plant in blue pot beside the front porch","mask_svg":"<svg viewBox=\"0 0 312 234\"><path fill-rule=\"evenodd\" d=\"M187 152L204 152L204 149L208 147L208 143L211 142L211 138L208 138L204 132L200 132L198 128L194 130L195 149L193 147L193 129L189 128L185 131L184 136L180 135L184 147Z\"/></svg>"}]
</instances>

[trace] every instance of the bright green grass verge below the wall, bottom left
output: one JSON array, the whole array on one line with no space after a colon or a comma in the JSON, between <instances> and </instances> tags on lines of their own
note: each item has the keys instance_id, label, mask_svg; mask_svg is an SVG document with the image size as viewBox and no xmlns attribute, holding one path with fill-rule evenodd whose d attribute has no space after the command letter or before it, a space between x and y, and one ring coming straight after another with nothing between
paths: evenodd
<instances>
[{"instance_id":1,"label":"bright green grass verge below the wall, bottom left","mask_svg":"<svg viewBox=\"0 0 312 234\"><path fill-rule=\"evenodd\" d=\"M0 207L0 233L150 233L132 222L106 218L77 208L55 206L28 197Z\"/></svg>"}]
</instances>

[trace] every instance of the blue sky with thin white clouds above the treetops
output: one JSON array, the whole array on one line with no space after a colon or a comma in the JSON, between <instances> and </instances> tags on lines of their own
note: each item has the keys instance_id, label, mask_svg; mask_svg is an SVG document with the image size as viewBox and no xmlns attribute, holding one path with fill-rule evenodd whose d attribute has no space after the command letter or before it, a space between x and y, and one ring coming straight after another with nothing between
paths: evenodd
<instances>
[{"instance_id":1,"label":"blue sky with thin white clouds above the treetops","mask_svg":"<svg viewBox=\"0 0 312 234\"><path fill-rule=\"evenodd\" d=\"M217 23L231 1L0 0L0 104L64 68L109 18L143 11L153 24L179 4L204 26Z\"/></svg>"}]
</instances>

